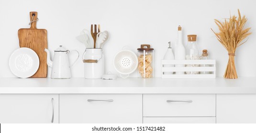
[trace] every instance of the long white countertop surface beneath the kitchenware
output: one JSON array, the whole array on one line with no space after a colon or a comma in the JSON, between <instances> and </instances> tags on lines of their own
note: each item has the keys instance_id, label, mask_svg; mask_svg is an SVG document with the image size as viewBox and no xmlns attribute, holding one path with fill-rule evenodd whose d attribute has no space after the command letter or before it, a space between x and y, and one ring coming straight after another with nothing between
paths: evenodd
<instances>
[{"instance_id":1,"label":"long white countertop surface beneath the kitchenware","mask_svg":"<svg viewBox=\"0 0 256 133\"><path fill-rule=\"evenodd\" d=\"M114 80L0 78L0 94L256 94L256 77Z\"/></svg>"}]
</instances>

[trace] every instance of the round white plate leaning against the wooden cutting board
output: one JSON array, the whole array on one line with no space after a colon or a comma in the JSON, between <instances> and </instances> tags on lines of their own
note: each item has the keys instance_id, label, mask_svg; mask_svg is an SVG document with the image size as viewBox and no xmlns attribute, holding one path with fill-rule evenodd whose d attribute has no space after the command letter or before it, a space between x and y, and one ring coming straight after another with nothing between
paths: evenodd
<instances>
[{"instance_id":1,"label":"round white plate leaning against the wooden cutting board","mask_svg":"<svg viewBox=\"0 0 256 133\"><path fill-rule=\"evenodd\" d=\"M27 78L38 70L39 57L32 49L22 47L11 54L9 66L15 76Z\"/></svg>"}]
</instances>

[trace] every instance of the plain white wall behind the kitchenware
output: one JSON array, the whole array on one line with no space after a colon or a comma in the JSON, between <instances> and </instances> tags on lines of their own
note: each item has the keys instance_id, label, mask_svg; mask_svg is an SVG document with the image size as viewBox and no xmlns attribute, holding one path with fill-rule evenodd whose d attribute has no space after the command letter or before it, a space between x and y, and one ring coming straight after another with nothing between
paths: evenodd
<instances>
[{"instance_id":1,"label":"plain white wall behind the kitchenware","mask_svg":"<svg viewBox=\"0 0 256 133\"><path fill-rule=\"evenodd\" d=\"M167 42L176 41L177 27L181 25L184 43L187 34L197 34L200 50L209 50L210 57L217 60L217 76L223 76L228 53L210 29L217 30L213 19L228 18L230 12L237 15L240 9L248 18L246 27L255 32L255 4L255 0L0 0L0 76L14 77L8 61L19 47L18 29L29 28L30 11L38 12L37 28L47 29L52 55L59 45L78 49L82 54L85 47L75 37L90 24L100 24L111 35L104 46L105 69L115 74L112 59L123 46L129 45L136 52L140 44L151 44L155 48L155 76L160 77L160 60ZM255 43L252 34L237 49L238 76L256 76ZM84 76L82 61L72 68L72 75Z\"/></svg>"}]
</instances>

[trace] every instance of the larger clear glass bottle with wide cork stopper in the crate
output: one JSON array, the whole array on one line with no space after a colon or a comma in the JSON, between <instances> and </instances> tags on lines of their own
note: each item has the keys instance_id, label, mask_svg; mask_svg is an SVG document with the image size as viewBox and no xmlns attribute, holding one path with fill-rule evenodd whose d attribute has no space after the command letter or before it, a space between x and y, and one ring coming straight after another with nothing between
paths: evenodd
<instances>
[{"instance_id":1,"label":"larger clear glass bottle with wide cork stopper in the crate","mask_svg":"<svg viewBox=\"0 0 256 133\"><path fill-rule=\"evenodd\" d=\"M199 50L197 47L197 35L188 35L188 45L186 47L186 59L199 59ZM199 65L186 65L189 67ZM186 74L199 74L199 72L186 72Z\"/></svg>"}]
</instances>

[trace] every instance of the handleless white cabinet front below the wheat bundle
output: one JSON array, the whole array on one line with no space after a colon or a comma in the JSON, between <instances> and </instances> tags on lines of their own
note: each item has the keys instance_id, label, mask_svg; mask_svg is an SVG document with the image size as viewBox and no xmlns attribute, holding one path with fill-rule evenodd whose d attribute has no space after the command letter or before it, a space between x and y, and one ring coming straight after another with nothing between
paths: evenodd
<instances>
[{"instance_id":1,"label":"handleless white cabinet front below the wheat bundle","mask_svg":"<svg viewBox=\"0 0 256 133\"><path fill-rule=\"evenodd\" d=\"M256 123L256 94L217 94L217 123Z\"/></svg>"}]
</instances>

